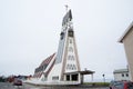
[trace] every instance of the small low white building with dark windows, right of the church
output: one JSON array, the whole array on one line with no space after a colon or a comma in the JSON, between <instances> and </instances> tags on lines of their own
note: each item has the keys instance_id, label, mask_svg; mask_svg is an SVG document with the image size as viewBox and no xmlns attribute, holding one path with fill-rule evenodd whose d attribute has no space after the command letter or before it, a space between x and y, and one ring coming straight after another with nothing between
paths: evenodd
<instances>
[{"instance_id":1,"label":"small low white building with dark windows, right of the church","mask_svg":"<svg viewBox=\"0 0 133 89\"><path fill-rule=\"evenodd\" d=\"M129 69L117 69L113 71L114 80L130 80Z\"/></svg>"}]
</instances>

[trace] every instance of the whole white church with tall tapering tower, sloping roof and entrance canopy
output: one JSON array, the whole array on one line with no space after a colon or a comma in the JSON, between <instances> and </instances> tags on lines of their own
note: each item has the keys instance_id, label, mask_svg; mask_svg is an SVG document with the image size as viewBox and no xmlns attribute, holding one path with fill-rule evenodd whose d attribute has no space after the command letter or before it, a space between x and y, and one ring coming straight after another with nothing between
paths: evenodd
<instances>
[{"instance_id":1,"label":"whole white church with tall tapering tower, sloping roof and entrance canopy","mask_svg":"<svg viewBox=\"0 0 133 89\"><path fill-rule=\"evenodd\" d=\"M35 68L33 78L29 80L37 85L80 85L84 75L94 71L81 71L75 36L72 23L72 12L69 10L62 20L58 52L51 55Z\"/></svg>"}]
</instances>

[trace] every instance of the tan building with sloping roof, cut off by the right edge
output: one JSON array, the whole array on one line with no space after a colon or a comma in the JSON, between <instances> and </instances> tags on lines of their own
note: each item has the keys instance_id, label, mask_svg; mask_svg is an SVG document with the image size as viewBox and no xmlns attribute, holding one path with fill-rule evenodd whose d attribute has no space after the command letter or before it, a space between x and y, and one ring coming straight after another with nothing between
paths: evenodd
<instances>
[{"instance_id":1,"label":"tan building with sloping roof, cut off by the right edge","mask_svg":"<svg viewBox=\"0 0 133 89\"><path fill-rule=\"evenodd\" d=\"M129 71L131 73L131 80L133 81L133 22L129 26L119 41L124 43Z\"/></svg>"}]
</instances>

